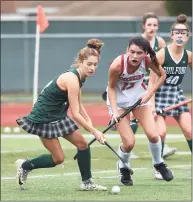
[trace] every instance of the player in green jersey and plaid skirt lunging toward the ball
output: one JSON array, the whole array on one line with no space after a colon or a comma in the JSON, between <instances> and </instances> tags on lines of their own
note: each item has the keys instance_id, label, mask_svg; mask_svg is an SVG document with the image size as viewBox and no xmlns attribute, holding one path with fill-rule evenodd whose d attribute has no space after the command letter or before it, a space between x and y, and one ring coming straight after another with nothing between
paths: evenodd
<instances>
[{"instance_id":1,"label":"player in green jersey and plaid skirt lunging toward the ball","mask_svg":"<svg viewBox=\"0 0 193 202\"><path fill-rule=\"evenodd\" d=\"M104 144L103 133L93 127L81 103L81 87L87 77L94 75L102 45L100 40L89 40L78 53L74 64L76 68L70 68L50 81L40 93L32 111L16 120L26 132L39 136L43 146L50 152L32 159L16 160L17 183L22 189L30 171L55 167L64 162L64 152L58 139L62 137L78 149L77 162L82 177L80 190L107 190L92 180L90 148L77 126L82 126ZM68 109L71 110L72 119L67 115Z\"/></svg>"}]
</instances>

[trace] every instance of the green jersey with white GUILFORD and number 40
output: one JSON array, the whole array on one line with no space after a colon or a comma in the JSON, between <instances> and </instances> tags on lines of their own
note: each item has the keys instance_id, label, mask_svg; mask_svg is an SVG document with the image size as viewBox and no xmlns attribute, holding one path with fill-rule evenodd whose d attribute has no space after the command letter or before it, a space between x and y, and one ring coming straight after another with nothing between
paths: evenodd
<instances>
[{"instance_id":1,"label":"green jersey with white GUILFORD and number 40","mask_svg":"<svg viewBox=\"0 0 193 202\"><path fill-rule=\"evenodd\" d=\"M166 80L164 85L180 85L188 66L188 53L184 49L182 58L179 61L175 61L175 59L172 58L168 47L165 47L164 49L165 60L164 64L162 65L166 73Z\"/></svg>"}]
</instances>

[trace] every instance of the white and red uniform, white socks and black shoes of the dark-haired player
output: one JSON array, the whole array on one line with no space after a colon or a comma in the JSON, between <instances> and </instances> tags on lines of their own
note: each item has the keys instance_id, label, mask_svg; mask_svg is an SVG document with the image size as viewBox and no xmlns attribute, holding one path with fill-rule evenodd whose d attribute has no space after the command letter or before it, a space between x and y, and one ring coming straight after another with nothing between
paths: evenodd
<instances>
[{"instance_id":1,"label":"white and red uniform, white socks and black shoes of the dark-haired player","mask_svg":"<svg viewBox=\"0 0 193 202\"><path fill-rule=\"evenodd\" d=\"M115 85L116 105L118 110L126 109L132 106L137 100L147 93L146 85L143 83L144 75L148 68L146 62L147 56L141 61L141 64L133 73L128 73L128 59L127 54L121 55L121 72ZM109 107L109 114L112 116L113 111L109 101L108 87L106 91L107 106ZM149 103L142 105L149 105ZM166 165L163 163L163 159L161 158L161 139L159 138L156 143L149 141L149 148L152 154L152 162L155 169L160 171L165 180L172 180L172 173L168 168L166 168ZM121 146L119 146L118 154L124 159L124 162L128 165L128 167L130 167L131 151L125 152L122 150ZM117 169L120 174L120 183L125 186L132 186L133 181L130 176L131 173L120 160L117 162Z\"/></svg>"}]
</instances>

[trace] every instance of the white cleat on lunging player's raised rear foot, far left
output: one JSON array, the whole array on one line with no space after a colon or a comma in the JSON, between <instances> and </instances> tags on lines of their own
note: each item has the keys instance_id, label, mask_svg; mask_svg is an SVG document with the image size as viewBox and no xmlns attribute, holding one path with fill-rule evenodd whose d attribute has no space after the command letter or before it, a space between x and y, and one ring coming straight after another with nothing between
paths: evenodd
<instances>
[{"instance_id":1,"label":"white cleat on lunging player's raised rear foot, far left","mask_svg":"<svg viewBox=\"0 0 193 202\"><path fill-rule=\"evenodd\" d=\"M29 170L24 170L22 168L22 164L25 162L26 160L24 159L17 159L15 161L15 165L17 168L17 175L16 175L16 182L17 184L20 186L20 188L22 190L24 190L26 188L26 181L27 181L27 175L30 172Z\"/></svg>"}]
</instances>

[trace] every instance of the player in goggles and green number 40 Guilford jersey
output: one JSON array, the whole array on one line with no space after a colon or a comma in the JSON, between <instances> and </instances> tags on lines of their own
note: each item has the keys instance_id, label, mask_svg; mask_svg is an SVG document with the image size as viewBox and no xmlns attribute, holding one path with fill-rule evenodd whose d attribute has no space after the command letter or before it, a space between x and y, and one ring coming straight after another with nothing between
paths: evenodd
<instances>
[{"instance_id":1,"label":"player in goggles and green number 40 Guilford jersey","mask_svg":"<svg viewBox=\"0 0 193 202\"><path fill-rule=\"evenodd\" d=\"M152 99L154 109L160 110L167 106L177 104L185 100L181 83L186 72L187 66L192 68L192 52L184 48L188 41L190 29L187 17L183 14L177 17L176 22L171 27L172 42L157 53L159 63L163 66L166 73L166 80L155 93ZM154 85L157 76L151 72L149 87ZM152 97L153 98L153 97ZM184 105L167 112L165 115L156 117L157 131L162 139L166 137L165 117L172 116L178 122L189 148L192 151L191 135L191 115L188 106Z\"/></svg>"}]
</instances>

